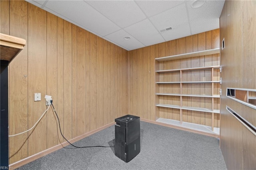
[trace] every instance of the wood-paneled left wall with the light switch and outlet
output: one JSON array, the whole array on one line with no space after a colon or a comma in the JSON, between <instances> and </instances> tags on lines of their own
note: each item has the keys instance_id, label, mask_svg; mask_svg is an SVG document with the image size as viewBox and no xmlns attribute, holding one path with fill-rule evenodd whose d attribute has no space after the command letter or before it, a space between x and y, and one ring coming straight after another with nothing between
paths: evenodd
<instances>
[{"instance_id":1,"label":"wood-paneled left wall with the light switch and outlet","mask_svg":"<svg viewBox=\"0 0 256 170\"><path fill-rule=\"evenodd\" d=\"M67 139L128 114L128 51L28 2L0 3L1 33L27 41L9 65L10 135L36 123L46 94ZM35 129L10 137L9 163L63 143L57 123L50 108Z\"/></svg>"}]
</instances>

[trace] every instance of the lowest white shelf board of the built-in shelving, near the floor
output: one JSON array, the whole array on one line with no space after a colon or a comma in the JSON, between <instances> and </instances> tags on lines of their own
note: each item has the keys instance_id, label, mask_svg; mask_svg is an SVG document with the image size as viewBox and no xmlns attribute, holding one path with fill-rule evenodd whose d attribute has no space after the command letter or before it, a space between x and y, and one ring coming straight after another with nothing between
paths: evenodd
<instances>
[{"instance_id":1,"label":"lowest white shelf board of the built-in shelving, near the floor","mask_svg":"<svg viewBox=\"0 0 256 170\"><path fill-rule=\"evenodd\" d=\"M156 121L161 122L161 123L167 123L170 125L179 126L179 127L184 127L184 128L192 129L192 130L196 130L196 131L202 131L202 132L206 132L206 133L220 135L219 127L214 127L214 131L212 131L212 127L206 126L206 125L199 125L196 123L182 122L182 124L180 124L180 121L172 120L172 119L164 119L164 118L158 118Z\"/></svg>"}]
</instances>

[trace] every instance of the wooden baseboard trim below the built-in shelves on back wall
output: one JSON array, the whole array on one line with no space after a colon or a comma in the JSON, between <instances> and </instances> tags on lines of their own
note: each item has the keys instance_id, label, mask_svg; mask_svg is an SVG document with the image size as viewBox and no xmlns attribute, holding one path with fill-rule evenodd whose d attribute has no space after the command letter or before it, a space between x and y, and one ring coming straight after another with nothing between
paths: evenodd
<instances>
[{"instance_id":1,"label":"wooden baseboard trim below the built-in shelves on back wall","mask_svg":"<svg viewBox=\"0 0 256 170\"><path fill-rule=\"evenodd\" d=\"M197 134L201 134L201 135L206 135L206 136L210 136L210 137L220 138L220 135L217 135L217 134L207 133L207 132L203 132L203 131L197 131L197 130L188 129L188 128L185 128L185 127L179 127L179 126L170 125L170 124L166 124L166 123L162 123L162 122L158 122L158 121L153 121L153 120L148 120L148 119L143 119L143 118L140 118L140 120L148 122L148 123L154 123L156 125L172 127L174 129L180 129L180 130L183 130L183 131L188 131L188 132L193 132L193 133L197 133Z\"/></svg>"}]
</instances>

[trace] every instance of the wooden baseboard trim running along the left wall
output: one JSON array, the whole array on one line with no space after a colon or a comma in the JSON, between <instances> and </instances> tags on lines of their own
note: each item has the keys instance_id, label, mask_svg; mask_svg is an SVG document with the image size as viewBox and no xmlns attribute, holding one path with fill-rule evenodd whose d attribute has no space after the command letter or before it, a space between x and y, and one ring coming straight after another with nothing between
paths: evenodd
<instances>
[{"instance_id":1,"label":"wooden baseboard trim running along the left wall","mask_svg":"<svg viewBox=\"0 0 256 170\"><path fill-rule=\"evenodd\" d=\"M79 140L81 140L81 139L84 139L85 137L88 137L88 136L90 136L90 135L96 133L96 132L99 132L99 131L101 131L101 130L103 130L103 129L106 129L107 127L110 127L110 126L112 126L112 125L114 125L114 124L115 124L115 122L112 122L112 123L109 123L109 124L107 124L107 125L104 125L104 126L98 128L98 129L95 129L95 130L93 130L93 131L90 131L90 132L88 132L88 133L85 133L85 134L83 134L83 135L80 135L80 136L78 136L78 137L75 137L74 139L70 139L69 142L70 142L70 143L74 143L74 142L76 142L76 141L79 141ZM43 157L43 156L45 156L45 155L47 155L47 154L50 154L50 153L52 153L52 152L54 152L54 151L56 151L56 150L58 150L58 149L61 149L61 148L63 148L63 147L66 147L66 146L68 146L68 145L69 145L68 142L63 142L63 143L61 143L61 144L59 144L59 145L56 145L56 146L51 147L51 148L49 148L49 149L46 149L46 150L44 150L44 151L42 151L42 152L39 152L39 153L34 154L34 155L32 155L32 156L29 156L29 157L27 157L27 158L25 158L25 159L19 160L18 162L15 162L15 163L13 163L13 164L10 164L10 165L9 165L9 169L16 169L16 168L18 168L18 167L20 167L20 166L22 166L22 165L28 164L29 162L32 162L33 160L36 160L36 159L38 159L38 158L41 158L41 157Z\"/></svg>"}]
</instances>

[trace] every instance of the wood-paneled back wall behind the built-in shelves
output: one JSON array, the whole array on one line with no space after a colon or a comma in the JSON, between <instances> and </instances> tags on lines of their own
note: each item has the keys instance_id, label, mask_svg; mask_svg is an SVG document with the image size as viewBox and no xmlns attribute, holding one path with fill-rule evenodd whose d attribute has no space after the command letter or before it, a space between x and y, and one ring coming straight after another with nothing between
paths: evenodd
<instances>
[{"instance_id":1,"label":"wood-paneled back wall behind the built-in shelves","mask_svg":"<svg viewBox=\"0 0 256 170\"><path fill-rule=\"evenodd\" d=\"M180 120L180 110L171 108L160 108L160 115L156 115L156 92L155 92L155 58L166 57L170 55L178 55L183 53L191 53L195 51L203 51L207 49L214 49L219 47L219 29L191 35L188 37L167 41L164 43L151 45L141 49L129 51L129 94L130 94L130 113L138 115L144 119L155 121L158 117L167 119ZM162 69L178 69L178 68L191 68L200 66L213 66L220 64L219 55L206 55L201 57L192 57L188 59L179 59L174 61L165 61L161 65ZM184 76L188 81L199 81L205 77L210 77L211 74L207 75L208 72L205 70L198 71L193 74L191 71L186 72ZM166 76L165 76L166 77ZM172 75L170 77L173 81L180 81L180 75ZM177 78L177 80L175 79ZM163 80L167 81L167 80ZM184 80L185 81L185 80ZM171 88L172 93L180 93L180 85L160 85L162 92L168 92ZM202 87L204 90L205 87ZM209 87L211 95L211 85ZM183 90L194 94L194 90L198 90L196 94L200 94L200 84L186 84L183 86ZM205 93L205 92L203 92ZM218 94L218 92L214 92ZM206 92L207 94L207 92ZM180 97L164 96L164 100L169 98L172 104L179 105ZM209 105L210 102L207 99L192 100L191 98L184 99L187 106L203 107ZM178 103L175 103L178 102ZM219 109L219 101L216 101ZM164 102L162 102L164 104ZM199 106L198 106L199 104ZM199 111L183 111L183 121L198 123L202 125L211 125L211 113L199 112ZM220 127L219 114L214 114L214 126Z\"/></svg>"}]
</instances>

